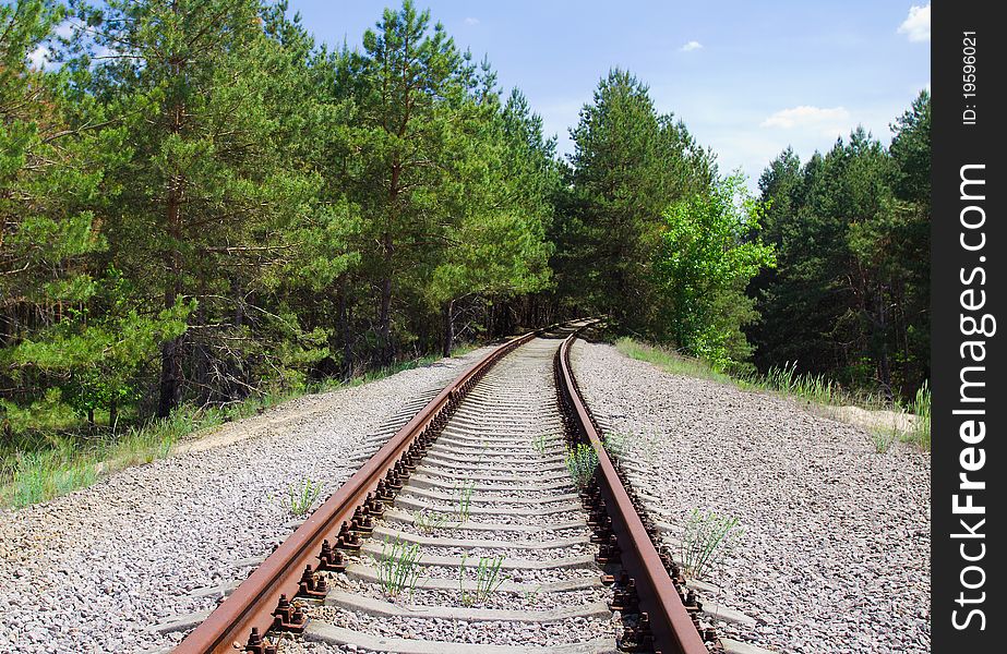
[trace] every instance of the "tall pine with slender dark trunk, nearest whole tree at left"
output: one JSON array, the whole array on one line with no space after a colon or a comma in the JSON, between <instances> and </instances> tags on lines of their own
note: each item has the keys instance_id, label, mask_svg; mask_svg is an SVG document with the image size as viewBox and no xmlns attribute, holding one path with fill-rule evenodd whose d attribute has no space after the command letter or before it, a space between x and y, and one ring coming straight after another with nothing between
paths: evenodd
<instances>
[{"instance_id":1,"label":"tall pine with slender dark trunk, nearest whole tree at left","mask_svg":"<svg viewBox=\"0 0 1007 654\"><path fill-rule=\"evenodd\" d=\"M92 88L129 133L131 157L112 174L106 217L111 257L142 295L187 315L160 346L157 414L189 380L206 399L248 395L267 353L251 332L298 330L260 311L260 277L286 250L278 225L311 189L280 164L284 59L255 0L113 0L81 10L95 25Z\"/></svg>"}]
</instances>

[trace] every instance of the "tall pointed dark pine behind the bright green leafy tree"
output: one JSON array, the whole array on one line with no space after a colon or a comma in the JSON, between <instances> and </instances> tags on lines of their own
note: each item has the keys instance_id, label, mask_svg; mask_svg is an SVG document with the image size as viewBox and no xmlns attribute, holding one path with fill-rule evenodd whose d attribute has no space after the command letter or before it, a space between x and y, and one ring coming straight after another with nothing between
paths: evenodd
<instances>
[{"instance_id":1,"label":"tall pointed dark pine behind the bright green leafy tree","mask_svg":"<svg viewBox=\"0 0 1007 654\"><path fill-rule=\"evenodd\" d=\"M646 84L619 69L600 81L571 135L572 170L552 237L560 296L623 328L654 331L662 214L709 186L712 156L681 121L657 113Z\"/></svg>"}]
</instances>

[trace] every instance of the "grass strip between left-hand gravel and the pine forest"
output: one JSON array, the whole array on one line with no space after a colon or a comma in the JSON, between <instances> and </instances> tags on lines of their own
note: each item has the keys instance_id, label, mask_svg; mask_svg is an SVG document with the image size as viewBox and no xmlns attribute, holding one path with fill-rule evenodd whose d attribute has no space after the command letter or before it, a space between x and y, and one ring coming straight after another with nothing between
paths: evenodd
<instances>
[{"instance_id":1,"label":"grass strip between left-hand gravel and the pine forest","mask_svg":"<svg viewBox=\"0 0 1007 654\"><path fill-rule=\"evenodd\" d=\"M475 347L461 344L452 350L452 355L459 356ZM13 434L0 434L0 508L16 509L84 488L103 474L165 458L180 440L193 434L256 415L288 400L359 386L437 360L440 356L434 355L418 358L364 372L346 383L328 380L267 390L223 407L183 405L169 417L118 429L101 425L107 423L107 414L99 413L97 426L86 425L80 416L50 402L44 411L27 415L25 425L20 424L25 421L17 421Z\"/></svg>"}]
</instances>

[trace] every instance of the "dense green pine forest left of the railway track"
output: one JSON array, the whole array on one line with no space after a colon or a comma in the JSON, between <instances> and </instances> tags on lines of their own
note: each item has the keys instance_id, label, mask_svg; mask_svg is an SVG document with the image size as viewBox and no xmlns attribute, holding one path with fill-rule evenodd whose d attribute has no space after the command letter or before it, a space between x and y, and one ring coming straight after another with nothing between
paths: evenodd
<instances>
[{"instance_id":1,"label":"dense green pine forest left of the railway track","mask_svg":"<svg viewBox=\"0 0 1007 654\"><path fill-rule=\"evenodd\" d=\"M8 436L538 318L554 143L409 1L332 50L285 3L22 0L0 58Z\"/></svg>"}]
</instances>

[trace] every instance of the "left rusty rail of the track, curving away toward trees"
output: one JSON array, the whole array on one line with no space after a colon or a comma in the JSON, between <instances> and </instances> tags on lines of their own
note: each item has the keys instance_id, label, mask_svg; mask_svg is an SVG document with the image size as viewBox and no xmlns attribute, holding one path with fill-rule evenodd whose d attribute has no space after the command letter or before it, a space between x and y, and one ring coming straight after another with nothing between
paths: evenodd
<instances>
[{"instance_id":1,"label":"left rusty rail of the track, curving away toward trees","mask_svg":"<svg viewBox=\"0 0 1007 654\"><path fill-rule=\"evenodd\" d=\"M413 458L425 450L433 432L443 427L465 393L496 361L537 334L507 341L442 390L189 633L176 654L264 654L273 651L262 641L272 627L283 623L296 631L303 616L298 621L300 614L287 598L303 591L305 581L310 590L321 591L313 585L311 570L304 573L305 568L333 569L333 561L341 556L339 549L353 548L357 528L370 522L368 507L380 513L386 484L394 487L399 476L407 476Z\"/></svg>"}]
</instances>

